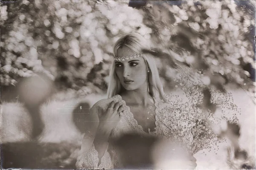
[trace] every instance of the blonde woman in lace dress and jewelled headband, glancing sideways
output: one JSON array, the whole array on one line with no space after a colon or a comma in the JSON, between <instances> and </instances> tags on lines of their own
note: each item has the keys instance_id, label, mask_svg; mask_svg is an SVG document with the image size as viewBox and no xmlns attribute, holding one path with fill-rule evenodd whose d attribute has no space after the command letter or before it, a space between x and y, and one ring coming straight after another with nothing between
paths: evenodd
<instances>
[{"instance_id":1,"label":"blonde woman in lace dress and jewelled headband, glancing sideways","mask_svg":"<svg viewBox=\"0 0 256 170\"><path fill-rule=\"evenodd\" d=\"M167 101L154 58L143 50L150 47L136 32L121 37L114 45L108 99L90 110L99 115L99 125L93 140L84 139L77 168L122 167L115 148L108 144L111 139L125 133L158 135L157 109ZM189 167L193 169L195 164Z\"/></svg>"}]
</instances>

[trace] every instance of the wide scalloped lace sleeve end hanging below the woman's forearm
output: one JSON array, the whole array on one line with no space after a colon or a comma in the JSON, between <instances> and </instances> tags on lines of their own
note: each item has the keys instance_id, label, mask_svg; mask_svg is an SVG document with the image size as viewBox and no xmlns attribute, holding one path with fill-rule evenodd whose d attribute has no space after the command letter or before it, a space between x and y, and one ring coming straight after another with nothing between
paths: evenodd
<instances>
[{"instance_id":1,"label":"wide scalloped lace sleeve end hanging below the woman's forearm","mask_svg":"<svg viewBox=\"0 0 256 170\"><path fill-rule=\"evenodd\" d=\"M76 168L77 169L97 169L97 168L113 169L111 156L107 150L108 149L105 150L105 153L101 159L101 164L98 166L99 164L98 152L95 149L94 144L92 144L92 147L90 147L87 153L81 153L80 156L78 156L76 161Z\"/></svg>"}]
</instances>

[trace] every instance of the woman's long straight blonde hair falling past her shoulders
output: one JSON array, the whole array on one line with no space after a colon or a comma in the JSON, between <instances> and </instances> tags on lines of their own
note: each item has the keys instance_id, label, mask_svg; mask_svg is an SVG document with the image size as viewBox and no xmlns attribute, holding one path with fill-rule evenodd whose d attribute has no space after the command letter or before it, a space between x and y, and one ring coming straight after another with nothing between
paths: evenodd
<instances>
[{"instance_id":1,"label":"woman's long straight blonde hair falling past her shoulders","mask_svg":"<svg viewBox=\"0 0 256 170\"><path fill-rule=\"evenodd\" d=\"M150 50L150 45L148 42L137 32L132 32L130 34L126 34L119 38L113 48L114 57L116 57L117 50L122 48L123 46L127 46L134 53L141 53L143 50ZM163 91L163 85L159 78L159 73L157 70L157 65L155 63L154 57L151 54L143 54L143 59L146 62L147 68L149 70L148 75L148 91L149 94L154 98L160 98L166 101ZM115 96L121 92L122 85L119 82L119 79L116 75L116 67L115 62L113 61L111 65L110 71L110 82L108 84L108 98Z\"/></svg>"}]
</instances>

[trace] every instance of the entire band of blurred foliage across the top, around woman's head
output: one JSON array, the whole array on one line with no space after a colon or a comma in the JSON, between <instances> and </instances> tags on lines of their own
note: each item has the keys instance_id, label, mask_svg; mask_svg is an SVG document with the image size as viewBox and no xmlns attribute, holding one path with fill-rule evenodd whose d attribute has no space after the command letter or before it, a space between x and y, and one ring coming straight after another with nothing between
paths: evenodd
<instances>
[{"instance_id":1,"label":"entire band of blurred foliage across the top, around woman's head","mask_svg":"<svg viewBox=\"0 0 256 170\"><path fill-rule=\"evenodd\" d=\"M128 0L2 3L1 83L39 71L58 89L105 91L113 43L137 30L166 54L156 55L166 88L175 85L176 63L200 69L215 87L236 83L253 92L253 12L233 1L179 2L148 1L141 8Z\"/></svg>"}]
</instances>

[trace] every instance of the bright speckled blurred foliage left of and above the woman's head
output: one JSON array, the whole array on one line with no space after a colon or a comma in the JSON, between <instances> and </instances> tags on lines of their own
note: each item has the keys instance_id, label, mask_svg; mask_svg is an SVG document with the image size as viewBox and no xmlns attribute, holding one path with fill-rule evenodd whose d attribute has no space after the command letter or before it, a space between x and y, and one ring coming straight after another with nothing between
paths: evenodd
<instances>
[{"instance_id":1,"label":"bright speckled blurred foliage left of and above the woman's head","mask_svg":"<svg viewBox=\"0 0 256 170\"><path fill-rule=\"evenodd\" d=\"M13 73L19 70L25 71L19 71L20 77L26 76L33 68L26 65L27 62L33 64L41 60L35 67L43 65L50 71L60 89L78 90L93 83L106 90L104 78L108 76L115 36L123 26L126 28L123 33L134 30L142 17L135 17L141 15L125 3L111 1L102 5L96 2L34 0L10 4L8 17L13 17L13 23L6 20L3 26L6 29L2 29L4 74L1 81L17 79ZM115 13L120 13L119 17L114 17ZM129 13L134 17L126 21ZM12 31L7 30L8 26ZM20 64L20 59L25 63Z\"/></svg>"}]
</instances>

